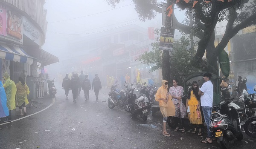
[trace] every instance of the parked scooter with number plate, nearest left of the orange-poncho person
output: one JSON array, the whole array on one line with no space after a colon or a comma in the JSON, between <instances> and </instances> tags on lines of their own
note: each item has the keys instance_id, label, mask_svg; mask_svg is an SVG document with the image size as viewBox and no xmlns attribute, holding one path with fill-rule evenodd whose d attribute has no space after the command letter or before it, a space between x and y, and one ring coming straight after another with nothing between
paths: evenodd
<instances>
[{"instance_id":1,"label":"parked scooter with number plate, nearest left of the orange-poncho person","mask_svg":"<svg viewBox=\"0 0 256 149\"><path fill-rule=\"evenodd\" d=\"M148 115L151 111L151 105L149 104L148 97L145 94L142 94L140 89L132 88L132 84L127 101L128 102L125 107L127 107L131 114L142 118L144 121L148 119Z\"/></svg>"}]
</instances>

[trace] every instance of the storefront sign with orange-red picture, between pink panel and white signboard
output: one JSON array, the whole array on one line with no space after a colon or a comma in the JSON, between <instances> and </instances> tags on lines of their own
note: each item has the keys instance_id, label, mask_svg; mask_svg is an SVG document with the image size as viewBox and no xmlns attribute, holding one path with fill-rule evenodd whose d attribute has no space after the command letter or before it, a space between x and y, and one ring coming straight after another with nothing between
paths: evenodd
<instances>
[{"instance_id":1,"label":"storefront sign with orange-red picture, between pink panel and white signboard","mask_svg":"<svg viewBox=\"0 0 256 149\"><path fill-rule=\"evenodd\" d=\"M18 39L22 39L21 32L21 24L22 18L21 16L15 11L8 11L8 18L7 18L7 34L12 35Z\"/></svg>"}]
</instances>

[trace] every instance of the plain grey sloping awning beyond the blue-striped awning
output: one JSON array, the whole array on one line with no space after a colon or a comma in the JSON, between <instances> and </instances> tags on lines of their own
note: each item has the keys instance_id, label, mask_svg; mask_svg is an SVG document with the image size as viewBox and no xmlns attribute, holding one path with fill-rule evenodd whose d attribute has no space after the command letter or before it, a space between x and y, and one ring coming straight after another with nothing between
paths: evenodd
<instances>
[{"instance_id":1,"label":"plain grey sloping awning beyond the blue-striped awning","mask_svg":"<svg viewBox=\"0 0 256 149\"><path fill-rule=\"evenodd\" d=\"M41 63L42 66L47 66L47 65L50 65L53 63L57 63L57 62L59 62L59 60L58 60L58 57L41 49L38 62Z\"/></svg>"}]
</instances>

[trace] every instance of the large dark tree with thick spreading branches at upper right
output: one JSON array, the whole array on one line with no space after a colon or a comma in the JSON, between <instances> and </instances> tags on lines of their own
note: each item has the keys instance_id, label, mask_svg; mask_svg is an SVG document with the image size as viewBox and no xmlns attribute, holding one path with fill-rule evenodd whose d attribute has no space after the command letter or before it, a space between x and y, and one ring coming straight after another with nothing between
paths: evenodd
<instances>
[{"instance_id":1,"label":"large dark tree with thick spreading branches at upper right","mask_svg":"<svg viewBox=\"0 0 256 149\"><path fill-rule=\"evenodd\" d=\"M115 6L121 0L105 0ZM167 0L165 0L166 2ZM168 0L176 3L176 0ZM158 0L132 0L140 20L150 20L156 12L162 12L162 2ZM193 26L180 23L173 11L173 28L198 37L198 48L191 63L199 69L218 74L217 57L219 50L227 46L229 40L241 29L256 24L256 0L212 0L210 3L199 1L193 7L193 1L177 2L177 7L186 10L186 15L192 15ZM192 11L192 14L189 13ZM226 31L219 45L215 47L215 26L218 22L227 21ZM207 61L202 60L204 53Z\"/></svg>"}]
</instances>

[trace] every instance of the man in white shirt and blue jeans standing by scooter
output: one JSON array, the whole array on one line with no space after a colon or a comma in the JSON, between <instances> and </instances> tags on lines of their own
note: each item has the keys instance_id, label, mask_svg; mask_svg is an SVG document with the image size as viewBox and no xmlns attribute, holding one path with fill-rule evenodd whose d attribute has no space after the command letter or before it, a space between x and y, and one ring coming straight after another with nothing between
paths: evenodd
<instances>
[{"instance_id":1,"label":"man in white shirt and blue jeans standing by scooter","mask_svg":"<svg viewBox=\"0 0 256 149\"><path fill-rule=\"evenodd\" d=\"M204 74L205 83L199 89L198 95L201 96L201 106L204 114L204 120L207 125L207 139L202 140L201 143L212 143L212 132L210 132L210 117L212 114L213 102L213 85L211 82L212 74L206 72Z\"/></svg>"}]
</instances>

